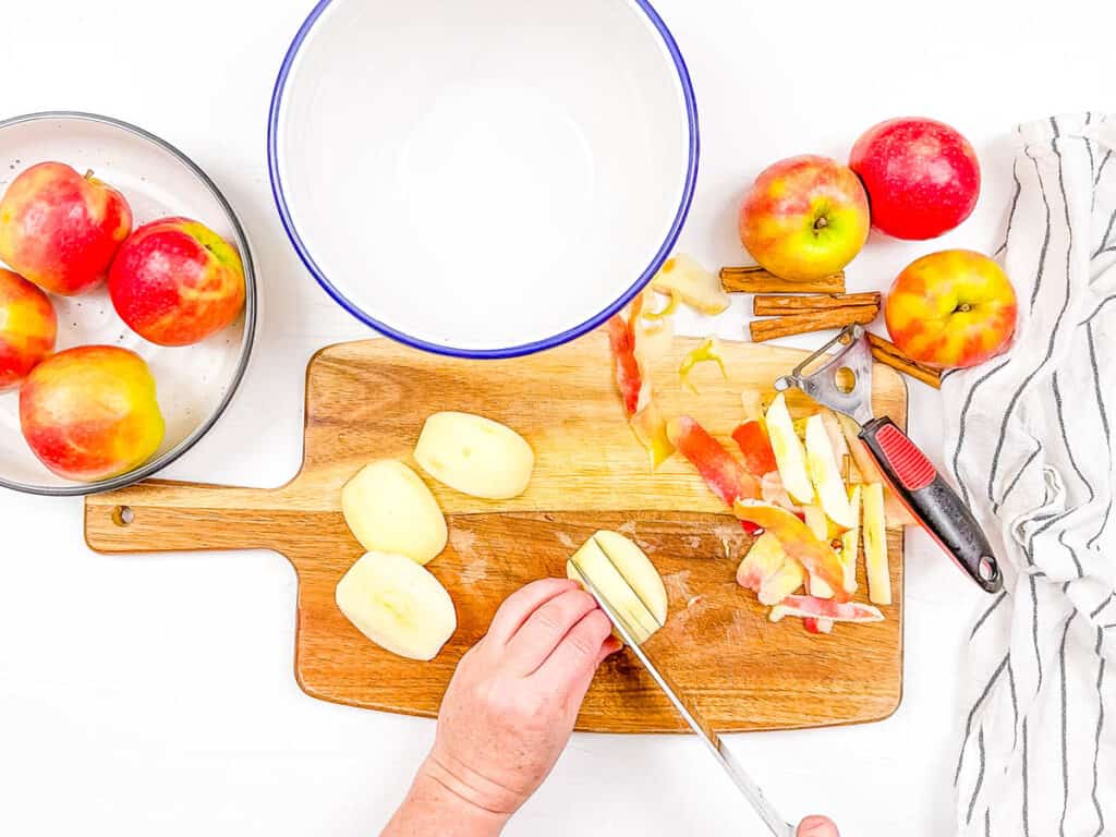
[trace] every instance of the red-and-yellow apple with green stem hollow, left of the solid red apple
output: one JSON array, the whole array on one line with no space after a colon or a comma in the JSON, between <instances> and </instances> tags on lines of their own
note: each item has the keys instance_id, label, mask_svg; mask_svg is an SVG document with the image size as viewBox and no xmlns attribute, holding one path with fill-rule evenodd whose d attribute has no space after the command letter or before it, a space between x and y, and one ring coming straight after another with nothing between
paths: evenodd
<instances>
[{"instance_id":1,"label":"red-and-yellow apple with green stem hollow, left of the solid red apple","mask_svg":"<svg viewBox=\"0 0 1116 837\"><path fill-rule=\"evenodd\" d=\"M764 169L740 206L741 243L763 268L796 281L841 270L868 229L868 198L857 176L811 154Z\"/></svg>"}]
</instances>

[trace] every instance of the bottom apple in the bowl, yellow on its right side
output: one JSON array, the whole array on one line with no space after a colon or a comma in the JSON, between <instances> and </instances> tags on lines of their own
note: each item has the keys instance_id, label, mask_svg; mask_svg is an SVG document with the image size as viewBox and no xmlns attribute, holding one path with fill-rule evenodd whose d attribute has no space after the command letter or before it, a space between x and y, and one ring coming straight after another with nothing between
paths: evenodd
<instances>
[{"instance_id":1,"label":"bottom apple in the bowl, yellow on its right side","mask_svg":"<svg viewBox=\"0 0 1116 837\"><path fill-rule=\"evenodd\" d=\"M19 391L19 423L42 464L81 482L143 464L164 432L147 364L116 346L79 346L36 366Z\"/></svg>"}]
</instances>

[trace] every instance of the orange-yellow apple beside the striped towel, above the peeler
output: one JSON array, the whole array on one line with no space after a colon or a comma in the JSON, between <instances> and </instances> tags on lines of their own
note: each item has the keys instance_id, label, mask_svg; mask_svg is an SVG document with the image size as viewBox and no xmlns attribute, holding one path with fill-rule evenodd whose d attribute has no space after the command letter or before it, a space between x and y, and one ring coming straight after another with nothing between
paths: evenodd
<instances>
[{"instance_id":1,"label":"orange-yellow apple beside the striped towel, above the peeler","mask_svg":"<svg viewBox=\"0 0 1116 837\"><path fill-rule=\"evenodd\" d=\"M908 264L884 304L887 331L914 360L977 366L1016 330L1016 290L1000 266L972 250L942 250Z\"/></svg>"}]
</instances>

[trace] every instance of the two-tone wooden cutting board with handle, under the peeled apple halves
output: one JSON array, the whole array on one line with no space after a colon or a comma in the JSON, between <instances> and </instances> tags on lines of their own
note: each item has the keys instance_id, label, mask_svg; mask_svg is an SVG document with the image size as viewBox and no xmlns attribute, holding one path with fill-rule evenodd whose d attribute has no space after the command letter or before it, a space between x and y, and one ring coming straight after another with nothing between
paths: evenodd
<instances>
[{"instance_id":1,"label":"two-tone wooden cutting board with handle, under the peeled apple halves","mask_svg":"<svg viewBox=\"0 0 1116 837\"><path fill-rule=\"evenodd\" d=\"M667 415L686 412L732 444L744 388L771 392L801 353L725 344L729 379L705 364L685 392L676 369L698 340L676 338L654 364ZM876 366L874 406L906 424L906 386ZM802 412L805 396L791 400ZM340 488L368 461L408 462L423 421L440 410L480 413L531 443L525 494L478 500L427 479L450 523L450 543L429 569L450 590L458 631L430 663L393 656L365 639L334 604L334 588L363 550L340 513ZM896 604L886 622L838 625L828 636L798 619L767 620L737 586L748 538L682 458L651 473L623 417L603 331L510 360L454 360L389 340L323 349L306 378L302 469L273 490L152 481L86 500L86 539L103 552L269 548L298 574L295 674L310 695L369 709L434 715L462 654L498 605L521 585L562 576L566 558L595 530L634 538L662 574L666 627L647 643L722 731L874 721L898 705L903 656L903 535L888 532ZM860 562L863 565L863 561ZM866 589L863 566L860 588ZM863 596L863 593L862 593ZM685 730L627 654L607 661L578 729Z\"/></svg>"}]
</instances>

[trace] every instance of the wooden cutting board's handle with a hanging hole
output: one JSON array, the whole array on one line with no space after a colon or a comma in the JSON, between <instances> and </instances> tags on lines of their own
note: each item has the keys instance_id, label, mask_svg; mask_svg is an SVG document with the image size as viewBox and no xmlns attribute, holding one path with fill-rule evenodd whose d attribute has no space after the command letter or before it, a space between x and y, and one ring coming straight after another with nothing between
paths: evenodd
<instances>
[{"instance_id":1,"label":"wooden cutting board's handle with a hanging hole","mask_svg":"<svg viewBox=\"0 0 1116 837\"><path fill-rule=\"evenodd\" d=\"M148 480L85 501L85 540L98 552L273 548L275 493Z\"/></svg>"}]
</instances>

